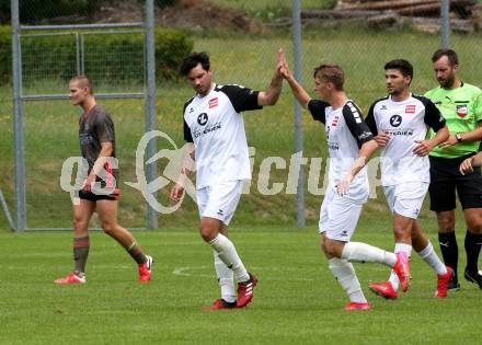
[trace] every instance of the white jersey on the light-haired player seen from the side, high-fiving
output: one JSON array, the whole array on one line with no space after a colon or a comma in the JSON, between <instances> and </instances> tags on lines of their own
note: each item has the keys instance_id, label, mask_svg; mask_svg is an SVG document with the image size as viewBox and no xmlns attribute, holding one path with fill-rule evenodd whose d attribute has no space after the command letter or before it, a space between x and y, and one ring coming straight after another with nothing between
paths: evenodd
<instances>
[{"instance_id":1,"label":"white jersey on the light-haired player seen from the side, high-fiving","mask_svg":"<svg viewBox=\"0 0 482 345\"><path fill-rule=\"evenodd\" d=\"M308 108L313 119L324 124L330 156L328 187L334 189L359 157L362 145L371 140L372 135L353 101L347 101L343 107L333 110L326 102L311 100ZM365 203L368 199L366 166L353 179L346 197L357 203Z\"/></svg>"}]
</instances>

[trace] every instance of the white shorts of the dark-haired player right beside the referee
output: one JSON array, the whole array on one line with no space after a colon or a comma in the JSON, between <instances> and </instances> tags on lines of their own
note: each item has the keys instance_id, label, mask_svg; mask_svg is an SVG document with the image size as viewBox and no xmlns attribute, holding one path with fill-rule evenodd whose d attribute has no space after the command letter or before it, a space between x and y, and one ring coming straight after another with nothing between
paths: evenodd
<instances>
[{"instance_id":1,"label":"white shorts of the dark-haired player right beside the referee","mask_svg":"<svg viewBox=\"0 0 482 345\"><path fill-rule=\"evenodd\" d=\"M392 214L416 219L428 191L428 183L405 182L383 187Z\"/></svg>"}]
</instances>

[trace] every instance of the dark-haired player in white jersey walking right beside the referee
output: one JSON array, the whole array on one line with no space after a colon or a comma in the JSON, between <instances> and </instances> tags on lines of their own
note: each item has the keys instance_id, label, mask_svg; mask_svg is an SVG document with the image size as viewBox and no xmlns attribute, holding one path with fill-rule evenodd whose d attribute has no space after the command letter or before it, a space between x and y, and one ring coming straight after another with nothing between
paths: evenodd
<instances>
[{"instance_id":1,"label":"dark-haired player in white jersey walking right beside the referee","mask_svg":"<svg viewBox=\"0 0 482 345\"><path fill-rule=\"evenodd\" d=\"M427 97L410 91L413 67L397 59L385 65L388 96L371 105L366 123L381 147L381 184L393 215L395 253L410 256L413 249L437 274L435 298L447 297L452 269L445 266L416 221L431 182L428 152L448 138L445 118ZM436 135L426 139L431 127ZM399 278L371 283L370 289L397 299Z\"/></svg>"}]
</instances>

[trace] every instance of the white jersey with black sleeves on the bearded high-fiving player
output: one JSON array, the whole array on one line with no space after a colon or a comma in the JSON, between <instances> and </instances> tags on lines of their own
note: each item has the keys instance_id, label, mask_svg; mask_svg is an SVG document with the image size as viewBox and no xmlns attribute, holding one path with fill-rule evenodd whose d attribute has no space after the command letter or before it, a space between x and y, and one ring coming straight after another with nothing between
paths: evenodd
<instances>
[{"instance_id":1,"label":"white jersey with black sleeves on the bearded high-fiving player","mask_svg":"<svg viewBox=\"0 0 482 345\"><path fill-rule=\"evenodd\" d=\"M184 139L194 142L196 188L251 179L243 111L260 110L257 91L215 85L184 105Z\"/></svg>"}]
</instances>

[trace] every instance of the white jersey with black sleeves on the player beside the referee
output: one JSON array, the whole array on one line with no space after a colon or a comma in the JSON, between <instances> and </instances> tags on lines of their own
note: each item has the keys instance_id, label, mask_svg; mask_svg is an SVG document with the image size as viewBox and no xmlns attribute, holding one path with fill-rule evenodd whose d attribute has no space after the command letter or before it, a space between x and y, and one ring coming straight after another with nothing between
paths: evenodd
<instances>
[{"instance_id":1,"label":"white jersey with black sleeves on the player beside the referee","mask_svg":"<svg viewBox=\"0 0 482 345\"><path fill-rule=\"evenodd\" d=\"M428 157L413 153L415 140L425 140L427 126L434 131L445 126L444 117L431 100L411 94L405 101L394 102L387 96L371 105L366 122L375 136L381 131L390 136L380 152L383 186L431 182Z\"/></svg>"}]
</instances>

